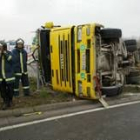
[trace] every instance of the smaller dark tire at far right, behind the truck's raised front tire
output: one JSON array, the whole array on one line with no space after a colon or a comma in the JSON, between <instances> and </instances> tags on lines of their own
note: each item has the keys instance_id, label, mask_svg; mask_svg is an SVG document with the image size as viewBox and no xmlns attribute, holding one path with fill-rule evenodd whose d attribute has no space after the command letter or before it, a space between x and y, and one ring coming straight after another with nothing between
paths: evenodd
<instances>
[{"instance_id":1,"label":"smaller dark tire at far right, behind the truck's raised front tire","mask_svg":"<svg viewBox=\"0 0 140 140\"><path fill-rule=\"evenodd\" d=\"M125 40L124 43L128 52L135 52L137 50L137 41L135 39Z\"/></svg>"}]
</instances>

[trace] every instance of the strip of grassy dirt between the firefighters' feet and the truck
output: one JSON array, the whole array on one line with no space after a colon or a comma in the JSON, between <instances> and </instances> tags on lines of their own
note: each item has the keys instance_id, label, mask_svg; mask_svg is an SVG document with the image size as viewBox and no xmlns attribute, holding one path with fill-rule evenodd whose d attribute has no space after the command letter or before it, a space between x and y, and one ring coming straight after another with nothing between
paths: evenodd
<instances>
[{"instance_id":1,"label":"strip of grassy dirt between the firefighters' feet and the truck","mask_svg":"<svg viewBox=\"0 0 140 140\"><path fill-rule=\"evenodd\" d=\"M32 92L30 96L24 96L21 92L19 97L13 98L13 105L11 109L14 108L26 108L36 105L52 104L58 102L69 102L72 101L74 96L72 94L60 93L60 92L50 92L48 88L41 88L38 92ZM2 107L3 101L0 98L0 109Z\"/></svg>"}]
</instances>

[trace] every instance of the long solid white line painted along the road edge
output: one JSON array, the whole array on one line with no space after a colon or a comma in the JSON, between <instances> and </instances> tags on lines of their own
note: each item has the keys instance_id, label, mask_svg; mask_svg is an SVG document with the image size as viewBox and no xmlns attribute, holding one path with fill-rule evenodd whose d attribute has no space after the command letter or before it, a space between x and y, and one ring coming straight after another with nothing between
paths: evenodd
<instances>
[{"instance_id":1,"label":"long solid white line painted along the road edge","mask_svg":"<svg viewBox=\"0 0 140 140\"><path fill-rule=\"evenodd\" d=\"M68 118L68 117L72 117L72 116L82 115L82 114L96 112L96 111L102 111L102 110L106 110L106 109L118 108L118 107L122 107L122 106L138 104L138 103L140 103L140 101L134 101L134 102L129 102L129 103L112 105L112 106L108 106L107 108L100 107L100 108L95 108L95 109L89 109L89 110L85 110L85 111L79 111L79 112L75 112L75 113L55 116L55 117L46 118L46 119L42 119L42 120L36 120L36 121L26 122L26 123L21 123L21 124L15 124L15 125L12 125L12 126L5 126L5 127L0 128L0 132L10 130L10 129L14 129L14 128L19 128L19 127L29 126L29 125L33 125L33 124L38 124L38 123L42 123L42 122L48 122L48 121L53 121L53 120L57 120L57 119Z\"/></svg>"}]
</instances>

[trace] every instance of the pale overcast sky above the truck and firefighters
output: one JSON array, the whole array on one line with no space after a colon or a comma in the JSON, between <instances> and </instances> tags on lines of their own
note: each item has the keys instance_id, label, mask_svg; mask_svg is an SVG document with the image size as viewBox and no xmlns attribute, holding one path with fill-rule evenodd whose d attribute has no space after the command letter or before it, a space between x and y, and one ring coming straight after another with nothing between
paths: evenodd
<instances>
[{"instance_id":1,"label":"pale overcast sky above the truck and firefighters","mask_svg":"<svg viewBox=\"0 0 140 140\"><path fill-rule=\"evenodd\" d=\"M97 22L121 28L124 37L140 37L139 0L0 0L0 39L33 33L46 21L69 25Z\"/></svg>"}]
</instances>

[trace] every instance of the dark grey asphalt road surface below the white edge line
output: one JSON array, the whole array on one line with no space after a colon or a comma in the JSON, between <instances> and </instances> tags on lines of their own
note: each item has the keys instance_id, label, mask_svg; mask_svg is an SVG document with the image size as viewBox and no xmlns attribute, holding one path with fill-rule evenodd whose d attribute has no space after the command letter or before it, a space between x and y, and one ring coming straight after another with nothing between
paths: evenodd
<instances>
[{"instance_id":1,"label":"dark grey asphalt road surface below the white edge line","mask_svg":"<svg viewBox=\"0 0 140 140\"><path fill-rule=\"evenodd\" d=\"M3 131L0 140L140 140L140 104Z\"/></svg>"}]
</instances>

